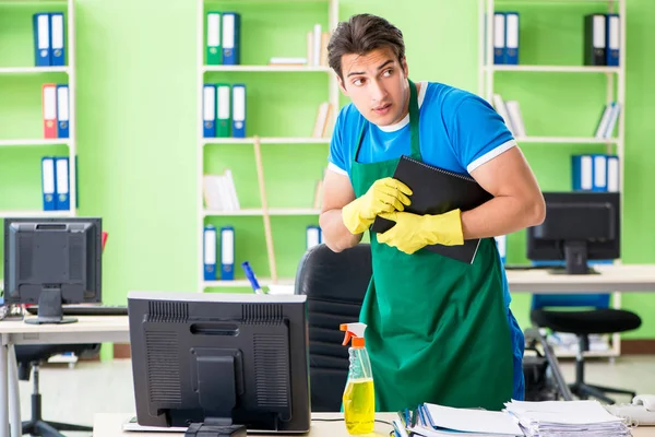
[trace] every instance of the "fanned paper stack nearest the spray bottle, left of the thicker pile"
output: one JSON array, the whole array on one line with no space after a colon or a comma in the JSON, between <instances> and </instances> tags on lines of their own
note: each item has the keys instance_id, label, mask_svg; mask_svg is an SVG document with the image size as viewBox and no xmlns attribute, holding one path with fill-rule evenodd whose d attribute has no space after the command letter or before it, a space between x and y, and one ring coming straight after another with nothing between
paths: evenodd
<instances>
[{"instance_id":1,"label":"fanned paper stack nearest the spray bottle, left of the thicker pile","mask_svg":"<svg viewBox=\"0 0 655 437\"><path fill-rule=\"evenodd\" d=\"M514 418L503 412L453 409L425 403L414 414L414 423L406 429L425 437L466 436L515 437L523 436ZM403 422L407 422L405 418Z\"/></svg>"}]
</instances>

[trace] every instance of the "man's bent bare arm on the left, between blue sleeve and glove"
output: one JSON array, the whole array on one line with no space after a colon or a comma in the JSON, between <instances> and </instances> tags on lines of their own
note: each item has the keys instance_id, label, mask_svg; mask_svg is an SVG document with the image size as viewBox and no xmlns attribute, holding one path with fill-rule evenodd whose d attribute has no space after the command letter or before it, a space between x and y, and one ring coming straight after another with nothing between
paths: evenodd
<instances>
[{"instance_id":1,"label":"man's bent bare arm on the left, between blue sleeve and glove","mask_svg":"<svg viewBox=\"0 0 655 437\"><path fill-rule=\"evenodd\" d=\"M342 208L353 200L355 191L348 176L327 169L323 180L323 206L319 224L325 245L335 252L356 246L364 235L350 234L342 218Z\"/></svg>"}]
</instances>

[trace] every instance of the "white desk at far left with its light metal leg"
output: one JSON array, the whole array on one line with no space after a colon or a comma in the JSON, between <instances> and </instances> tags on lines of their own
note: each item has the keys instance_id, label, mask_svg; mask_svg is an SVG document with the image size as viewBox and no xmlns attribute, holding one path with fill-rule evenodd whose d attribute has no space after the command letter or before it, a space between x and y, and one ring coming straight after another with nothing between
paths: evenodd
<instances>
[{"instance_id":1,"label":"white desk at far left with its light metal leg","mask_svg":"<svg viewBox=\"0 0 655 437\"><path fill-rule=\"evenodd\" d=\"M130 342L128 316L80 316L76 318L78 322L67 324L29 324L23 320L0 321L0 437L9 437L10 401L13 405L11 435L21 437L21 409L16 362L13 353L14 344Z\"/></svg>"}]
</instances>

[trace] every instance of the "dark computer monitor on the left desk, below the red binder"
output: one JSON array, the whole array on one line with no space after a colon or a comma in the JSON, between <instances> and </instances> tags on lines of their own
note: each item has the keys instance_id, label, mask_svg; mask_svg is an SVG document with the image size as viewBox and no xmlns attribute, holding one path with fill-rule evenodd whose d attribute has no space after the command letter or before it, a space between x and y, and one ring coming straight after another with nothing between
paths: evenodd
<instances>
[{"instance_id":1,"label":"dark computer monitor on the left desk, below the red binder","mask_svg":"<svg viewBox=\"0 0 655 437\"><path fill-rule=\"evenodd\" d=\"M27 323L71 323L62 304L102 302L102 218L4 220L4 300L38 304Z\"/></svg>"}]
</instances>

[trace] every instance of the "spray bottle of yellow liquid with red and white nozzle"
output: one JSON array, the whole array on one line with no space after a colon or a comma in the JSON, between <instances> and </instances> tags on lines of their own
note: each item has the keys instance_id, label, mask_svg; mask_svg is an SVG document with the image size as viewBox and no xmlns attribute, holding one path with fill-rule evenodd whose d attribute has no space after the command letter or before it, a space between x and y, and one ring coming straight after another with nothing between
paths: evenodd
<instances>
[{"instance_id":1,"label":"spray bottle of yellow liquid with red and white nozzle","mask_svg":"<svg viewBox=\"0 0 655 437\"><path fill-rule=\"evenodd\" d=\"M371 362L365 346L364 323L343 323L341 330L346 332L343 345L353 339L348 349L350 368L348 381L344 390L344 418L348 434L368 434L373 432L376 420L376 391Z\"/></svg>"}]
</instances>

